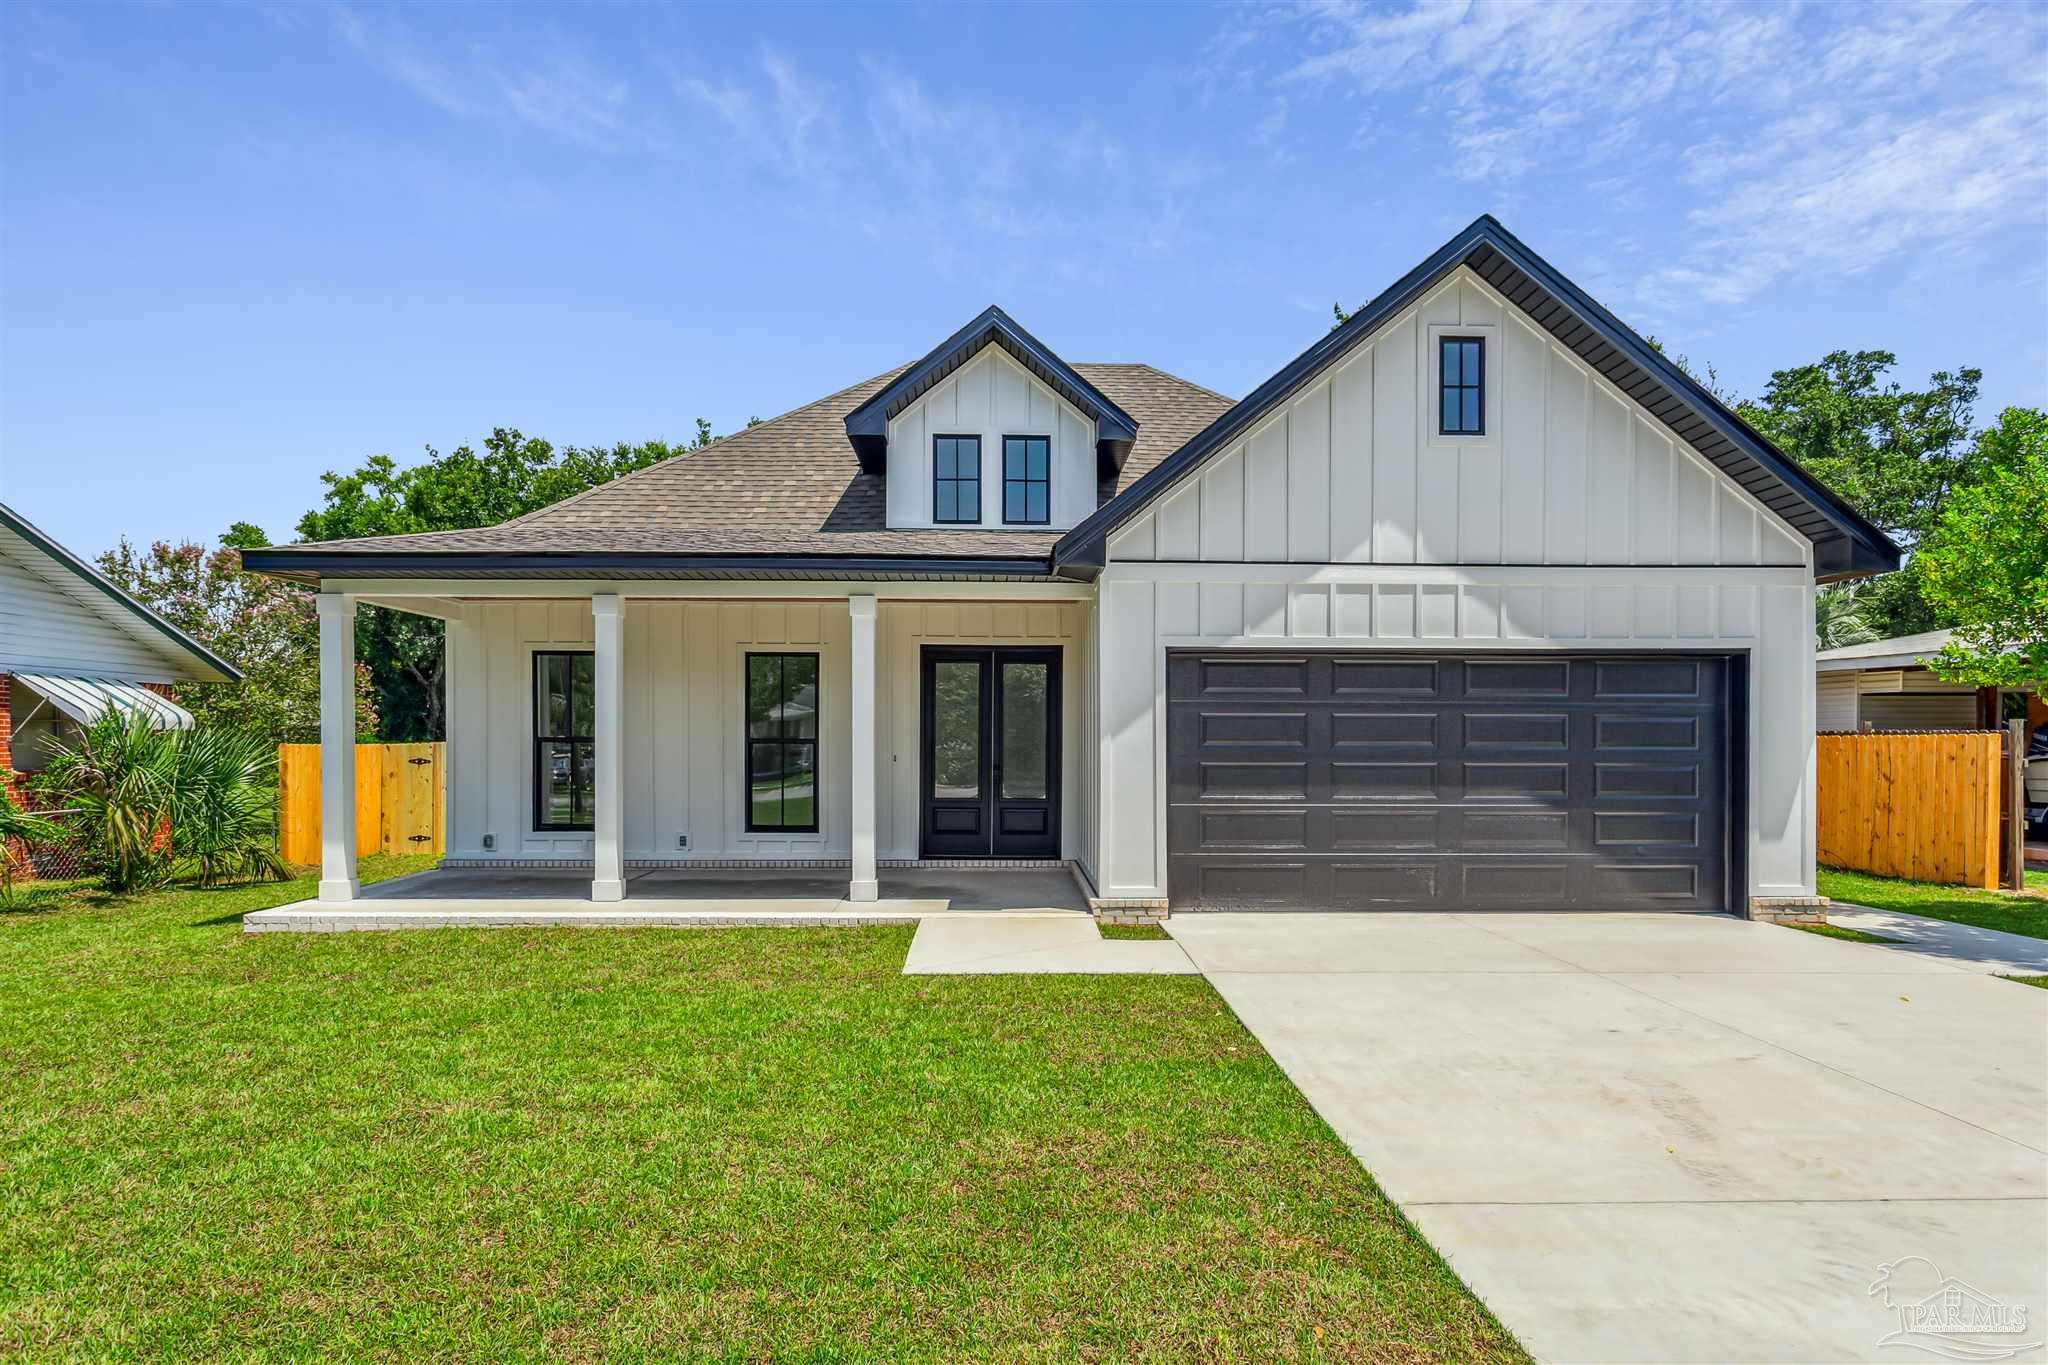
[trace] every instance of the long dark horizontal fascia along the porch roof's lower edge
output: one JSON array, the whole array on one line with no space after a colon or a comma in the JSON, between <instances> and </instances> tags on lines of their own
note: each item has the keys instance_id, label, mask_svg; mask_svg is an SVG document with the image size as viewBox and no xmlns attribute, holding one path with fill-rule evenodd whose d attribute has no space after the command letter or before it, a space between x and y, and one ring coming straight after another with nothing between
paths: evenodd
<instances>
[{"instance_id":1,"label":"long dark horizontal fascia along the porch roof's lower edge","mask_svg":"<svg viewBox=\"0 0 2048 1365\"><path fill-rule=\"evenodd\" d=\"M309 546L244 551L242 567L252 573L319 583L322 575L348 579L549 579L588 573L614 579L1042 579L1051 577L1047 557L946 559L936 555L633 555L618 551L563 551L508 555L504 551L451 553L336 553Z\"/></svg>"}]
</instances>

